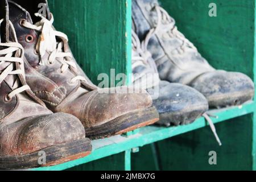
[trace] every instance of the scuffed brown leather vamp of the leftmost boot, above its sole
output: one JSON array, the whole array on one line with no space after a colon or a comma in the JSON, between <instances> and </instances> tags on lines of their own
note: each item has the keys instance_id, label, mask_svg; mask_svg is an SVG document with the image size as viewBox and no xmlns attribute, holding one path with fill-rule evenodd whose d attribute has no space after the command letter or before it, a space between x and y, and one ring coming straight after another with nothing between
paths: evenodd
<instances>
[{"instance_id":1,"label":"scuffed brown leather vamp of the leftmost boot, above its sole","mask_svg":"<svg viewBox=\"0 0 256 182\"><path fill-rule=\"evenodd\" d=\"M10 125L1 123L0 156L31 154L56 144L82 138L85 138L84 127L72 115L36 115Z\"/></svg>"}]
</instances>

